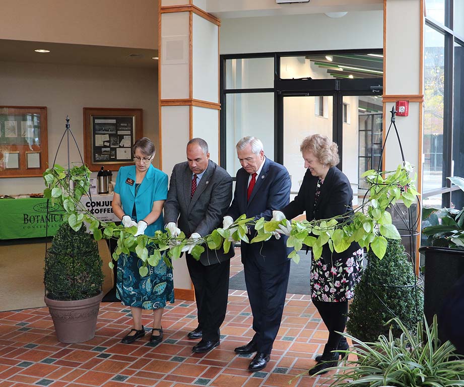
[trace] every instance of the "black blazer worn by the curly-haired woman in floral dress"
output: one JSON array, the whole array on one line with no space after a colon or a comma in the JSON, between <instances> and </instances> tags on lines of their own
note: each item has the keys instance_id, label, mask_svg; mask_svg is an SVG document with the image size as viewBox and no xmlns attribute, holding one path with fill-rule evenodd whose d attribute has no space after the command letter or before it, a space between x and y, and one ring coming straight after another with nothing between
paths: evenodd
<instances>
[{"instance_id":1,"label":"black blazer worn by the curly-haired woman in floral dress","mask_svg":"<svg viewBox=\"0 0 464 387\"><path fill-rule=\"evenodd\" d=\"M306 171L303 183L296 198L287 207L281 210L287 219L302 214L306 211L306 219L319 220L344 215L353 210L353 190L350 181L345 174L337 167L328 170L324 183L320 189L319 201L314 209L314 199L316 194L317 176L313 176L309 169ZM334 259L351 256L353 251L359 249L355 242L346 251L337 253L334 251ZM323 254L331 254L328 245L323 247ZM330 255L329 255L330 256Z\"/></svg>"}]
</instances>

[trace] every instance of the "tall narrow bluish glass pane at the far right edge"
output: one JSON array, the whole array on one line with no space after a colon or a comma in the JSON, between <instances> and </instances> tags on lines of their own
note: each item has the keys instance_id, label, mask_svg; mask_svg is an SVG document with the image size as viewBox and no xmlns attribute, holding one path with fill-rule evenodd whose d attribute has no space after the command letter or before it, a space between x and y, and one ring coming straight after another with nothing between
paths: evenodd
<instances>
[{"instance_id":1,"label":"tall narrow bluish glass pane at the far right edge","mask_svg":"<svg viewBox=\"0 0 464 387\"><path fill-rule=\"evenodd\" d=\"M462 144L464 144L464 47L454 43L453 175L464 177Z\"/></svg>"}]
</instances>

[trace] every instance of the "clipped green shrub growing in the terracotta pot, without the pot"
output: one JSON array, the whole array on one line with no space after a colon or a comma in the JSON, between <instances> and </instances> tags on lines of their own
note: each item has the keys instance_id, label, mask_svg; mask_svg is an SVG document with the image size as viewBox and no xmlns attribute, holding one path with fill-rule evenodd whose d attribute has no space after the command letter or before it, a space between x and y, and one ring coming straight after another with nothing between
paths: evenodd
<instances>
[{"instance_id":1,"label":"clipped green shrub growing in the terracotta pot, without the pot","mask_svg":"<svg viewBox=\"0 0 464 387\"><path fill-rule=\"evenodd\" d=\"M45 256L46 296L53 300L81 300L97 295L102 287L102 259L92 235L63 223Z\"/></svg>"}]
</instances>

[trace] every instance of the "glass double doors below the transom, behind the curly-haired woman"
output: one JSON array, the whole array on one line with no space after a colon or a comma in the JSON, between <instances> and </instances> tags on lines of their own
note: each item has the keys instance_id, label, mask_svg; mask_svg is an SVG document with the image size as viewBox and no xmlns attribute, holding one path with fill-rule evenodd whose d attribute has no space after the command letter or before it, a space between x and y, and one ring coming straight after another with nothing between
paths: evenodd
<instances>
[{"instance_id":1,"label":"glass double doors below the transom, behind the curly-haired woman","mask_svg":"<svg viewBox=\"0 0 464 387\"><path fill-rule=\"evenodd\" d=\"M381 97L335 92L332 95L284 95L281 99L281 155L292 178L292 198L306 172L300 152L301 141L317 133L339 145L343 164L338 167L350 180L356 205L358 195L364 195L366 189L362 174L368 169L376 169L380 162L383 139Z\"/></svg>"}]
</instances>

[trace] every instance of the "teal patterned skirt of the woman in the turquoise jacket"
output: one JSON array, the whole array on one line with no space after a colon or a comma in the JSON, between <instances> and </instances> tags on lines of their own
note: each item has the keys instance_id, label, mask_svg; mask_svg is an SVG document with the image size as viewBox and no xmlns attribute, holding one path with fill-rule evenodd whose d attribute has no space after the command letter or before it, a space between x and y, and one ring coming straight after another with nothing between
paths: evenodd
<instances>
[{"instance_id":1,"label":"teal patterned skirt of the woman in the turquoise jacket","mask_svg":"<svg viewBox=\"0 0 464 387\"><path fill-rule=\"evenodd\" d=\"M149 255L153 248L148 247ZM172 268L163 259L157 266L148 266L146 277L141 277L139 268L142 260L135 252L122 253L117 261L116 297L125 306L141 309L159 309L166 306L166 302L174 302L174 282Z\"/></svg>"}]
</instances>

